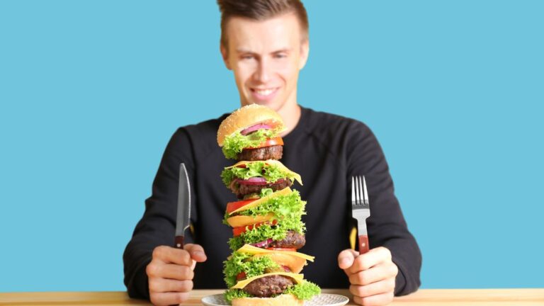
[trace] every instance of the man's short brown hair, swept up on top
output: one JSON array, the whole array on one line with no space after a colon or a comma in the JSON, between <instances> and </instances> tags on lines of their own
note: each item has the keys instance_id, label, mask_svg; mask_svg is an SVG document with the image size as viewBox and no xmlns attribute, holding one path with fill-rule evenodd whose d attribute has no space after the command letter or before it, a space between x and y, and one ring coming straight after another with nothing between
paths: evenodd
<instances>
[{"instance_id":1,"label":"man's short brown hair, swept up on top","mask_svg":"<svg viewBox=\"0 0 544 306\"><path fill-rule=\"evenodd\" d=\"M227 47L227 22L235 16L263 21L285 13L295 13L302 37L308 39L308 16L300 0L217 0L217 5L221 11L221 45L224 47Z\"/></svg>"}]
</instances>

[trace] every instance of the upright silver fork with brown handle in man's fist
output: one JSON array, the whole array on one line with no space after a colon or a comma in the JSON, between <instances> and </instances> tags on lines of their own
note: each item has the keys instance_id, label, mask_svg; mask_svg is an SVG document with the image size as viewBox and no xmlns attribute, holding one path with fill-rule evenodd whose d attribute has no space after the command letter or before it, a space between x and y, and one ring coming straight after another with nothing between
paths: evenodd
<instances>
[{"instance_id":1,"label":"upright silver fork with brown handle in man's fist","mask_svg":"<svg viewBox=\"0 0 544 306\"><path fill-rule=\"evenodd\" d=\"M359 254L365 254L368 252L366 218L370 217L370 205L368 204L365 176L363 176L362 179L361 176L351 177L351 215L357 220Z\"/></svg>"}]
</instances>

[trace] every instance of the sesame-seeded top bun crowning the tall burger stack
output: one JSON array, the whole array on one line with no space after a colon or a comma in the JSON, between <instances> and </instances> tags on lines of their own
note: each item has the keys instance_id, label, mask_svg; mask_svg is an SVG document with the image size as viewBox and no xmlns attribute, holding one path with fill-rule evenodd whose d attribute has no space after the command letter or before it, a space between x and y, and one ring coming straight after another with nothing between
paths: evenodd
<instances>
[{"instance_id":1,"label":"sesame-seeded top bun crowning the tall burger stack","mask_svg":"<svg viewBox=\"0 0 544 306\"><path fill-rule=\"evenodd\" d=\"M238 108L223 120L219 130L217 130L217 144L222 147L225 137L259 123L266 123L280 131L285 129L283 119L271 108L259 104L249 104Z\"/></svg>"}]
</instances>

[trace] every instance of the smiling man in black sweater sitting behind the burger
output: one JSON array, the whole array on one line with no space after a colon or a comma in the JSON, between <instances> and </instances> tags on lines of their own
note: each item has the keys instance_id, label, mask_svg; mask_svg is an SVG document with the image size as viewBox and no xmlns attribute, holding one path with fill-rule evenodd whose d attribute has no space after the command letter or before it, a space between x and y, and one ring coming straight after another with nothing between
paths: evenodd
<instances>
[{"instance_id":1,"label":"smiling man in black sweater sitting behind the burger","mask_svg":"<svg viewBox=\"0 0 544 306\"><path fill-rule=\"evenodd\" d=\"M305 8L297 0L219 0L220 52L232 70L242 106L258 103L278 112L284 132L283 163L301 174L297 187L307 200L305 253L316 262L308 280L324 288L347 288L356 303L386 305L394 294L419 287L421 254L408 232L393 193L392 180L377 140L356 120L301 108L297 78L310 51ZM132 297L155 305L182 303L193 283L224 288L221 263L230 231L221 224L232 194L220 172L232 161L222 157L215 132L222 119L180 128L166 147L152 197L125 250L125 284ZM185 162L195 195L191 237L197 244L174 249L179 163ZM368 219L371 250L348 248L353 175L365 175L373 215ZM192 187L193 187L192 186ZM196 264L198 262L198 265ZM344 275L345 273L345 275Z\"/></svg>"}]
</instances>

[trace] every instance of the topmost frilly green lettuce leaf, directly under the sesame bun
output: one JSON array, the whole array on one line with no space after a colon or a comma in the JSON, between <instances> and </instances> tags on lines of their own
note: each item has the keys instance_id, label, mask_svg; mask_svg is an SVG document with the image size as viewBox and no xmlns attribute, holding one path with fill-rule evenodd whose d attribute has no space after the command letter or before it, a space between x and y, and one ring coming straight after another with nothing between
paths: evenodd
<instances>
[{"instance_id":1,"label":"topmost frilly green lettuce leaf, directly under the sesame bun","mask_svg":"<svg viewBox=\"0 0 544 306\"><path fill-rule=\"evenodd\" d=\"M235 132L232 135L225 137L222 151L227 159L237 159L237 154L242 152L246 147L256 147L261 145L261 142L268 138L276 137L278 130L257 130L249 135L242 135L240 132Z\"/></svg>"}]
</instances>

